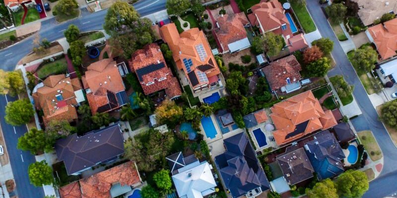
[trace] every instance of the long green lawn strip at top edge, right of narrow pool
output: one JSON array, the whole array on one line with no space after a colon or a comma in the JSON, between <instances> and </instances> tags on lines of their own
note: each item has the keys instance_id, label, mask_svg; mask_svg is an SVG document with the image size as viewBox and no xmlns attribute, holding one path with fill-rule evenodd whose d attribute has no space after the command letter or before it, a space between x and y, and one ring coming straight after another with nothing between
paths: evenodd
<instances>
[{"instance_id":1,"label":"long green lawn strip at top edge, right of narrow pool","mask_svg":"<svg viewBox=\"0 0 397 198\"><path fill-rule=\"evenodd\" d=\"M305 33L316 31L316 25L314 25L313 19L307 11L306 6L297 1L291 1L290 3Z\"/></svg>"}]
</instances>

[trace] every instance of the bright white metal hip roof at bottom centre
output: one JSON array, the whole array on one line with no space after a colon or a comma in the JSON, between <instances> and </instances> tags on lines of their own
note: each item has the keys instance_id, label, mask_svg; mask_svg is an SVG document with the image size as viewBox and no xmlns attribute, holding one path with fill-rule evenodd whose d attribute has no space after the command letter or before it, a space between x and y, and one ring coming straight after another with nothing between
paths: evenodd
<instances>
[{"instance_id":1,"label":"bright white metal hip roof at bottom centre","mask_svg":"<svg viewBox=\"0 0 397 198\"><path fill-rule=\"evenodd\" d=\"M215 192L215 179L208 162L172 176L180 198L202 198Z\"/></svg>"}]
</instances>

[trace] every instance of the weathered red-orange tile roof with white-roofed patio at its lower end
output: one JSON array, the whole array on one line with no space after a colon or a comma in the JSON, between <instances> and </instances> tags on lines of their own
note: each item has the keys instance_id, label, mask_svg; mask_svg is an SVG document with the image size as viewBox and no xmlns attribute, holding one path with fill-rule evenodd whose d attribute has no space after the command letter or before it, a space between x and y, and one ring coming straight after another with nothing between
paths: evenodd
<instances>
[{"instance_id":1,"label":"weathered red-orange tile roof with white-roofed patio at its lower end","mask_svg":"<svg viewBox=\"0 0 397 198\"><path fill-rule=\"evenodd\" d=\"M229 50L228 44L247 38L244 25L248 24L249 21L244 12L225 14L216 18L216 21L219 28L214 29L214 31L223 51Z\"/></svg>"}]
</instances>

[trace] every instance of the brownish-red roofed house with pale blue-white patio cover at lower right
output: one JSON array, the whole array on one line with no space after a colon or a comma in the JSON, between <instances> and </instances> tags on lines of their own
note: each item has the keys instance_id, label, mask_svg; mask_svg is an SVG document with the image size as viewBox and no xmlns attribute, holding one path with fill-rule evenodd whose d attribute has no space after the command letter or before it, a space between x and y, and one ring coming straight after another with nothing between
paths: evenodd
<instances>
[{"instance_id":1,"label":"brownish-red roofed house with pale blue-white patio cover at lower right","mask_svg":"<svg viewBox=\"0 0 397 198\"><path fill-rule=\"evenodd\" d=\"M270 89L281 90L287 94L301 88L301 70L302 67L294 55L273 61L262 69Z\"/></svg>"}]
</instances>

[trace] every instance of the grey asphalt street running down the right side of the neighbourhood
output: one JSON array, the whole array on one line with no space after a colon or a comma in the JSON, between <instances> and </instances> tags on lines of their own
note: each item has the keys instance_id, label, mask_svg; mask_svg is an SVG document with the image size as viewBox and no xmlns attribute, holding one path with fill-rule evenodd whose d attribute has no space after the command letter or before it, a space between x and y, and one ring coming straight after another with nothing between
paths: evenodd
<instances>
[{"instance_id":1,"label":"grey asphalt street running down the right side of the neighbourhood","mask_svg":"<svg viewBox=\"0 0 397 198\"><path fill-rule=\"evenodd\" d=\"M354 86L353 95L362 111L362 115L351 120L354 128L356 131L371 130L383 152L384 167L381 175L370 183L370 188L364 195L364 198L391 196L397 190L397 148L390 139L383 124L378 120L378 114L368 98L353 66L339 45L321 9L319 1L307 0L306 4L321 35L325 38L330 38L334 43L332 56L336 62L336 67L328 73L328 76L343 75L345 80Z\"/></svg>"}]
</instances>

